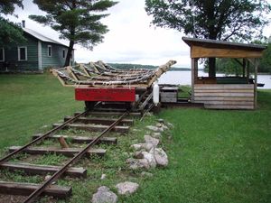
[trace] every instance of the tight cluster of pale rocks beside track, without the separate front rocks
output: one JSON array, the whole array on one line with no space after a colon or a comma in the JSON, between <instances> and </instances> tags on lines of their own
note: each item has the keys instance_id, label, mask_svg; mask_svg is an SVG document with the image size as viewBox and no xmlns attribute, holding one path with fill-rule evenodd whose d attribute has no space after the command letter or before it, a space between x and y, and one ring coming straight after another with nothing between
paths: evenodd
<instances>
[{"instance_id":1,"label":"tight cluster of pale rocks beside track, without the separate front rocks","mask_svg":"<svg viewBox=\"0 0 271 203\"><path fill-rule=\"evenodd\" d=\"M158 148L161 142L162 133L172 127L170 124L164 124L163 119L159 119L156 125L147 125L146 129L151 134L144 136L145 143L135 143L131 148L135 150L133 158L129 158L126 162L132 170L150 169L156 166L165 167L168 165L168 157L162 148Z\"/></svg>"}]
</instances>

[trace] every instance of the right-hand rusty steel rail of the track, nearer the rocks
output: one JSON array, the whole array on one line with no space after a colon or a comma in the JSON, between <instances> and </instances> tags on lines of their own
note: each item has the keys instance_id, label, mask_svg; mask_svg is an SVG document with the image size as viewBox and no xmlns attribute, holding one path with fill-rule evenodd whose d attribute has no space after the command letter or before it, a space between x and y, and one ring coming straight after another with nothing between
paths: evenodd
<instances>
[{"instance_id":1,"label":"right-hand rusty steel rail of the track, nearer the rocks","mask_svg":"<svg viewBox=\"0 0 271 203\"><path fill-rule=\"evenodd\" d=\"M74 163L75 161L78 161L81 156L83 156L86 152L89 151L89 148L91 146L93 146L94 144L98 143L99 139L104 135L107 134L107 132L109 132L115 125L117 125L126 115L129 115L129 111L126 111L123 115L121 115L117 121L115 121L112 125L110 125L106 130L104 130L101 134L98 135L98 137L93 140L91 143L89 143L82 151L80 151L79 153L77 153L70 161L68 161L67 163L65 163L64 166L62 166L62 168L59 171L56 171L50 179L46 180L45 182L43 182L43 184L36 190L33 191L33 193L28 196L28 198L26 198L23 203L32 203L34 202L44 191L44 189L46 189L46 187L50 186L50 184L57 180L65 171L68 170L68 168L70 167L70 165L72 163Z\"/></svg>"}]
</instances>

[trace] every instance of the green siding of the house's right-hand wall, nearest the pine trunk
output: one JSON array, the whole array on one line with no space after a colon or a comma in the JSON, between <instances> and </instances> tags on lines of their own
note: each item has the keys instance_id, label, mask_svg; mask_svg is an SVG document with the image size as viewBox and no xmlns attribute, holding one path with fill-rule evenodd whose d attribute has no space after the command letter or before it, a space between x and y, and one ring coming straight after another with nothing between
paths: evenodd
<instances>
[{"instance_id":1,"label":"green siding of the house's right-hand wall, nearest the pine trunk","mask_svg":"<svg viewBox=\"0 0 271 203\"><path fill-rule=\"evenodd\" d=\"M48 56L48 45L51 45L51 57ZM42 42L42 69L53 67L62 67L66 58L63 58L63 50L65 50L65 57L68 49L64 46Z\"/></svg>"}]
</instances>

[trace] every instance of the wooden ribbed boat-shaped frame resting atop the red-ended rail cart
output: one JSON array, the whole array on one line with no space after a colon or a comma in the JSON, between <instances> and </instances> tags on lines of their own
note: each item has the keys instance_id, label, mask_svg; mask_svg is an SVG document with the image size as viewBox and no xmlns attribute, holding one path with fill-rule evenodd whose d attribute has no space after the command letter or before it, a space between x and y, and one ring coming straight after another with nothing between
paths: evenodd
<instances>
[{"instance_id":1,"label":"wooden ribbed boat-shaped frame resting atop the red-ended rail cart","mask_svg":"<svg viewBox=\"0 0 271 203\"><path fill-rule=\"evenodd\" d=\"M51 73L65 87L149 88L175 63L175 60L169 60L157 69L115 69L98 60L74 68L51 69Z\"/></svg>"}]
</instances>

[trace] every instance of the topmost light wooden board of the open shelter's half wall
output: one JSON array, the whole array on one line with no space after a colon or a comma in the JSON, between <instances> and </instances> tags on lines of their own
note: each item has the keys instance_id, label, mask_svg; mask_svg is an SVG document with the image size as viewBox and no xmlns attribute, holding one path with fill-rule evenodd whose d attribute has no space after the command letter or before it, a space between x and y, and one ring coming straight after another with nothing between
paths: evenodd
<instances>
[{"instance_id":1,"label":"topmost light wooden board of the open shelter's half wall","mask_svg":"<svg viewBox=\"0 0 271 203\"><path fill-rule=\"evenodd\" d=\"M253 84L195 84L194 89L253 89Z\"/></svg>"}]
</instances>

